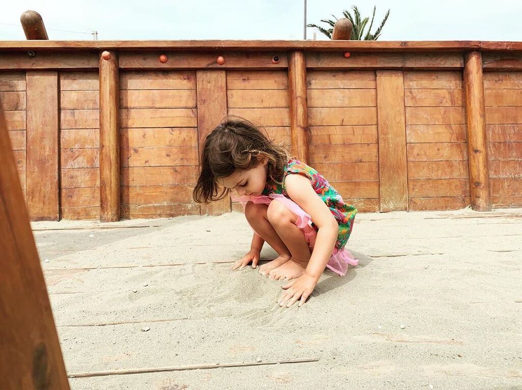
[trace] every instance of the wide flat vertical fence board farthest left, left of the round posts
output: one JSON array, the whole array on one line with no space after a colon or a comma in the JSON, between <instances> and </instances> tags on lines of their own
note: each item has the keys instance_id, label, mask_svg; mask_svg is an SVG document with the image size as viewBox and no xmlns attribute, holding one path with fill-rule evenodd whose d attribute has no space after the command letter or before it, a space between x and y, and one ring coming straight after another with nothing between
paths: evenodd
<instances>
[{"instance_id":1,"label":"wide flat vertical fence board farthest left, left of the round posts","mask_svg":"<svg viewBox=\"0 0 522 390\"><path fill-rule=\"evenodd\" d=\"M26 83L27 209L33 221L57 221L60 218L58 73L28 71Z\"/></svg>"}]
</instances>

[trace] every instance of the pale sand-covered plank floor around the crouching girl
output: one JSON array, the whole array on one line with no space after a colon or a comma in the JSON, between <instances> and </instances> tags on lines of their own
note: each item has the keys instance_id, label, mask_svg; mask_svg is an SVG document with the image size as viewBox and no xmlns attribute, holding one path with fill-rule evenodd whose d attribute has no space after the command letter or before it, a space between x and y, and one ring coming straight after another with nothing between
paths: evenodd
<instances>
[{"instance_id":1,"label":"pale sand-covered plank floor around the crouching girl","mask_svg":"<svg viewBox=\"0 0 522 390\"><path fill-rule=\"evenodd\" d=\"M360 265L299 309L277 305L284 282L230 270L252 236L239 213L34 223L69 375L216 367L71 388L522 389L522 210L356 219ZM318 360L263 365L296 359Z\"/></svg>"}]
</instances>

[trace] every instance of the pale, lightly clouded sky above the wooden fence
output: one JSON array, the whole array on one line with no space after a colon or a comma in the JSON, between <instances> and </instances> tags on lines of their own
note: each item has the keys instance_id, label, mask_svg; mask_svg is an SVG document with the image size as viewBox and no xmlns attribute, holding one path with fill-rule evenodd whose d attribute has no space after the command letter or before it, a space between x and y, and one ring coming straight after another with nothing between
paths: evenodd
<instances>
[{"instance_id":1,"label":"pale, lightly clouded sky above the wooden fence","mask_svg":"<svg viewBox=\"0 0 522 390\"><path fill-rule=\"evenodd\" d=\"M43 17L51 40L302 40L304 0L16 0L0 8L0 40L25 40L20 15ZM322 24L357 5L377 7L380 41L522 41L522 0L307 0L307 22ZM11 26L14 25L14 26ZM65 31L56 31L65 30ZM70 31L70 32L67 32ZM314 28L307 28L312 39ZM327 39L320 32L316 39Z\"/></svg>"}]
</instances>

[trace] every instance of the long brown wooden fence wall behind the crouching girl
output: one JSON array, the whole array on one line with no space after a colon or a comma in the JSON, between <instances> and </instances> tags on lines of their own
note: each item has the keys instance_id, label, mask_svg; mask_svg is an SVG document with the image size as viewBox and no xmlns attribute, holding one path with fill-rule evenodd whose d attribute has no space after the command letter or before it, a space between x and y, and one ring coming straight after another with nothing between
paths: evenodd
<instances>
[{"instance_id":1,"label":"long brown wooden fence wall behind the crouching girl","mask_svg":"<svg viewBox=\"0 0 522 390\"><path fill-rule=\"evenodd\" d=\"M240 210L192 200L226 115L360 211L522 206L522 43L0 41L32 220Z\"/></svg>"}]
</instances>

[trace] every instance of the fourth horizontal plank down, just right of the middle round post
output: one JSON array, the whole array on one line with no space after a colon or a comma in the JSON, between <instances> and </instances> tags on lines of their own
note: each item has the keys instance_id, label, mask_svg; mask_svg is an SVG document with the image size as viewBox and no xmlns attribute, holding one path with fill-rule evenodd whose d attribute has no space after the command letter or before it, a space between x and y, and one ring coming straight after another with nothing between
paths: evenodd
<instances>
[{"instance_id":1,"label":"fourth horizontal plank down, just right of the middle round post","mask_svg":"<svg viewBox=\"0 0 522 390\"><path fill-rule=\"evenodd\" d=\"M377 126L310 126L310 144L377 143Z\"/></svg>"}]
</instances>

